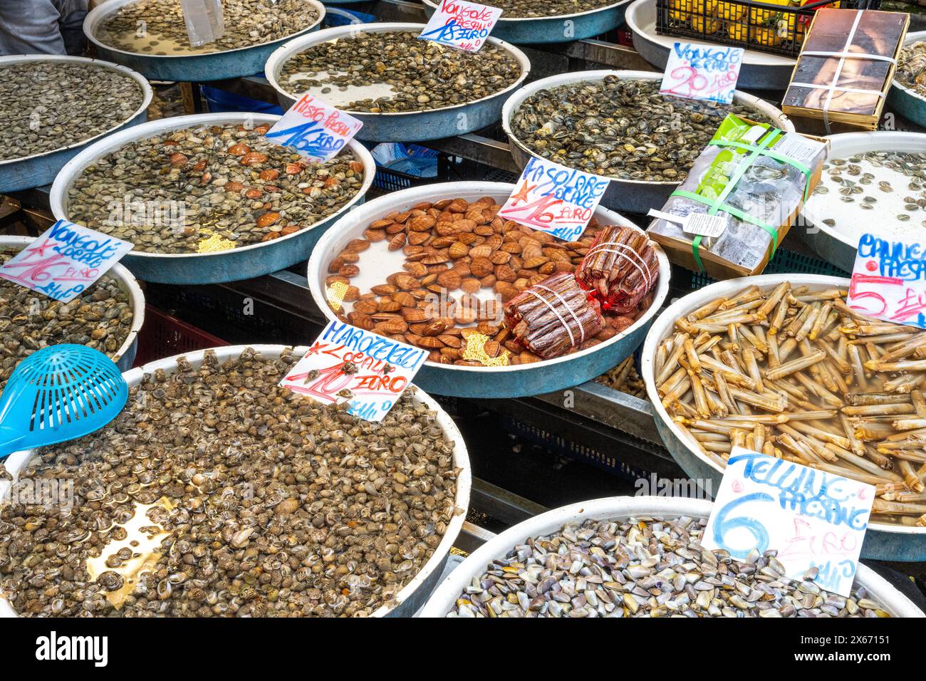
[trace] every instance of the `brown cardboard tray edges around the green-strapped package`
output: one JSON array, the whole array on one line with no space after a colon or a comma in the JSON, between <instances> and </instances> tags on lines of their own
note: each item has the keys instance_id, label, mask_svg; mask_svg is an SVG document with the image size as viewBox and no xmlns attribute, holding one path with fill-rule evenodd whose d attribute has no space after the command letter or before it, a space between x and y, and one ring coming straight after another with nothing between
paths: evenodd
<instances>
[{"instance_id":1,"label":"brown cardboard tray edges around the green-strapped package","mask_svg":"<svg viewBox=\"0 0 926 681\"><path fill-rule=\"evenodd\" d=\"M746 119L741 119L752 125L757 125L756 122ZM798 133L790 133L798 134ZM781 220L781 224L778 225L778 246L782 246L782 241L791 229L791 225L795 223L798 213L800 213L801 208L804 206L803 195L812 195L814 189L817 188L817 185L820 183L820 175L823 170L823 160L829 155L829 140L816 137L814 135L800 134L800 137L806 137L808 139L820 142L825 145L823 153L817 158L815 165L810 168L810 176L807 180L807 187L804 191L801 192L801 199L797 202L796 207L790 211L790 213ZM721 147L722 148L722 147ZM772 147L774 148L774 147ZM702 152L700 158L705 156L706 152ZM703 166L703 163L701 164ZM699 166L698 161L694 162L692 172L694 173L695 169ZM691 175L689 176L691 177ZM686 183L688 181L686 180ZM684 184L682 184L684 187ZM673 196L669 198L666 206L663 210L667 210L671 207L673 200L679 198L678 196ZM721 209L722 212L722 209ZM659 219L654 220L650 223L649 228L647 229L647 235L657 241L660 246L666 251L666 255L669 257L669 261L681 265L687 270L700 271L700 268L697 265L697 261L694 259L694 253L692 250L692 242L694 237L688 233L683 233L680 235L670 235L668 233L659 233L654 231L654 229L659 229L658 224L662 222ZM753 229L757 230L759 233L764 233L763 229L757 225L749 225ZM681 233L681 229L674 230L676 233ZM769 245L765 248L765 252L761 254L761 257L757 259L757 262L751 266L745 266L738 262L733 262L732 260L725 259L716 253L711 252L708 247L700 246L698 248L698 257L701 259L701 263L704 266L704 271L707 271L714 279L732 279L733 277L745 277L753 274L760 274L765 270L766 266L769 264L769 260L772 256L772 250L774 249L774 240L769 241Z\"/></svg>"}]
</instances>

